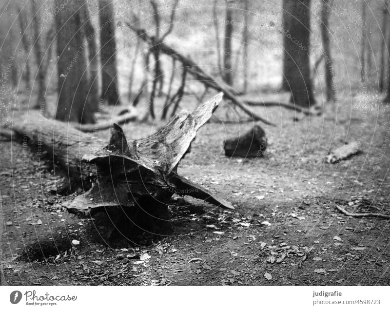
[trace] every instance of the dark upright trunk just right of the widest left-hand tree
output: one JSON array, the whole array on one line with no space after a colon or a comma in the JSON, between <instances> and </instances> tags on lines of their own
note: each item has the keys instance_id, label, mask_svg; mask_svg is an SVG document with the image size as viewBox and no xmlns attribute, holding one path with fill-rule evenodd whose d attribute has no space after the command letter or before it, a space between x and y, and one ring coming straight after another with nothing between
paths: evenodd
<instances>
[{"instance_id":1,"label":"dark upright trunk just right of the widest left-hand tree","mask_svg":"<svg viewBox=\"0 0 390 310\"><path fill-rule=\"evenodd\" d=\"M99 0L100 59L102 98L108 104L119 103L117 92L117 44L115 41L114 5L111 0Z\"/></svg>"}]
</instances>

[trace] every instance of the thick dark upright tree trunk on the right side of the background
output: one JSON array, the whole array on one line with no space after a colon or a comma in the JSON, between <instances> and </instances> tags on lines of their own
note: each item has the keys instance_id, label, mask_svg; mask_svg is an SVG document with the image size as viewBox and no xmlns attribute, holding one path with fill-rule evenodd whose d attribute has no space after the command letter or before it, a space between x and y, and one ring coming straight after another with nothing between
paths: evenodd
<instances>
[{"instance_id":1,"label":"thick dark upright tree trunk on the right side of the background","mask_svg":"<svg viewBox=\"0 0 390 310\"><path fill-rule=\"evenodd\" d=\"M311 0L283 0L284 90L292 93L291 102L311 106L314 102L310 78L310 3Z\"/></svg>"}]
</instances>

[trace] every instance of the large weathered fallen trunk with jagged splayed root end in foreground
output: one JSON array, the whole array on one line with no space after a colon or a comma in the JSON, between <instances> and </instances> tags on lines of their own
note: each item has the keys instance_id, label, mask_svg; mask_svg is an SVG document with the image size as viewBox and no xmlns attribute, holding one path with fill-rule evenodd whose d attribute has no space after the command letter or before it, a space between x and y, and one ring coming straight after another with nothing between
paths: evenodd
<instances>
[{"instance_id":1,"label":"large weathered fallen trunk with jagged splayed root end in foreground","mask_svg":"<svg viewBox=\"0 0 390 310\"><path fill-rule=\"evenodd\" d=\"M177 165L188 152L197 130L212 116L222 94L193 112L181 111L154 135L127 141L122 129L112 127L107 142L84 134L69 124L50 120L38 113L14 119L11 130L27 135L66 169L83 188L65 207L70 213L91 216L106 212L118 229L161 233L168 219L168 203L173 194L190 195L222 208L233 206L195 183L179 176ZM169 226L169 225L168 225Z\"/></svg>"}]
</instances>

